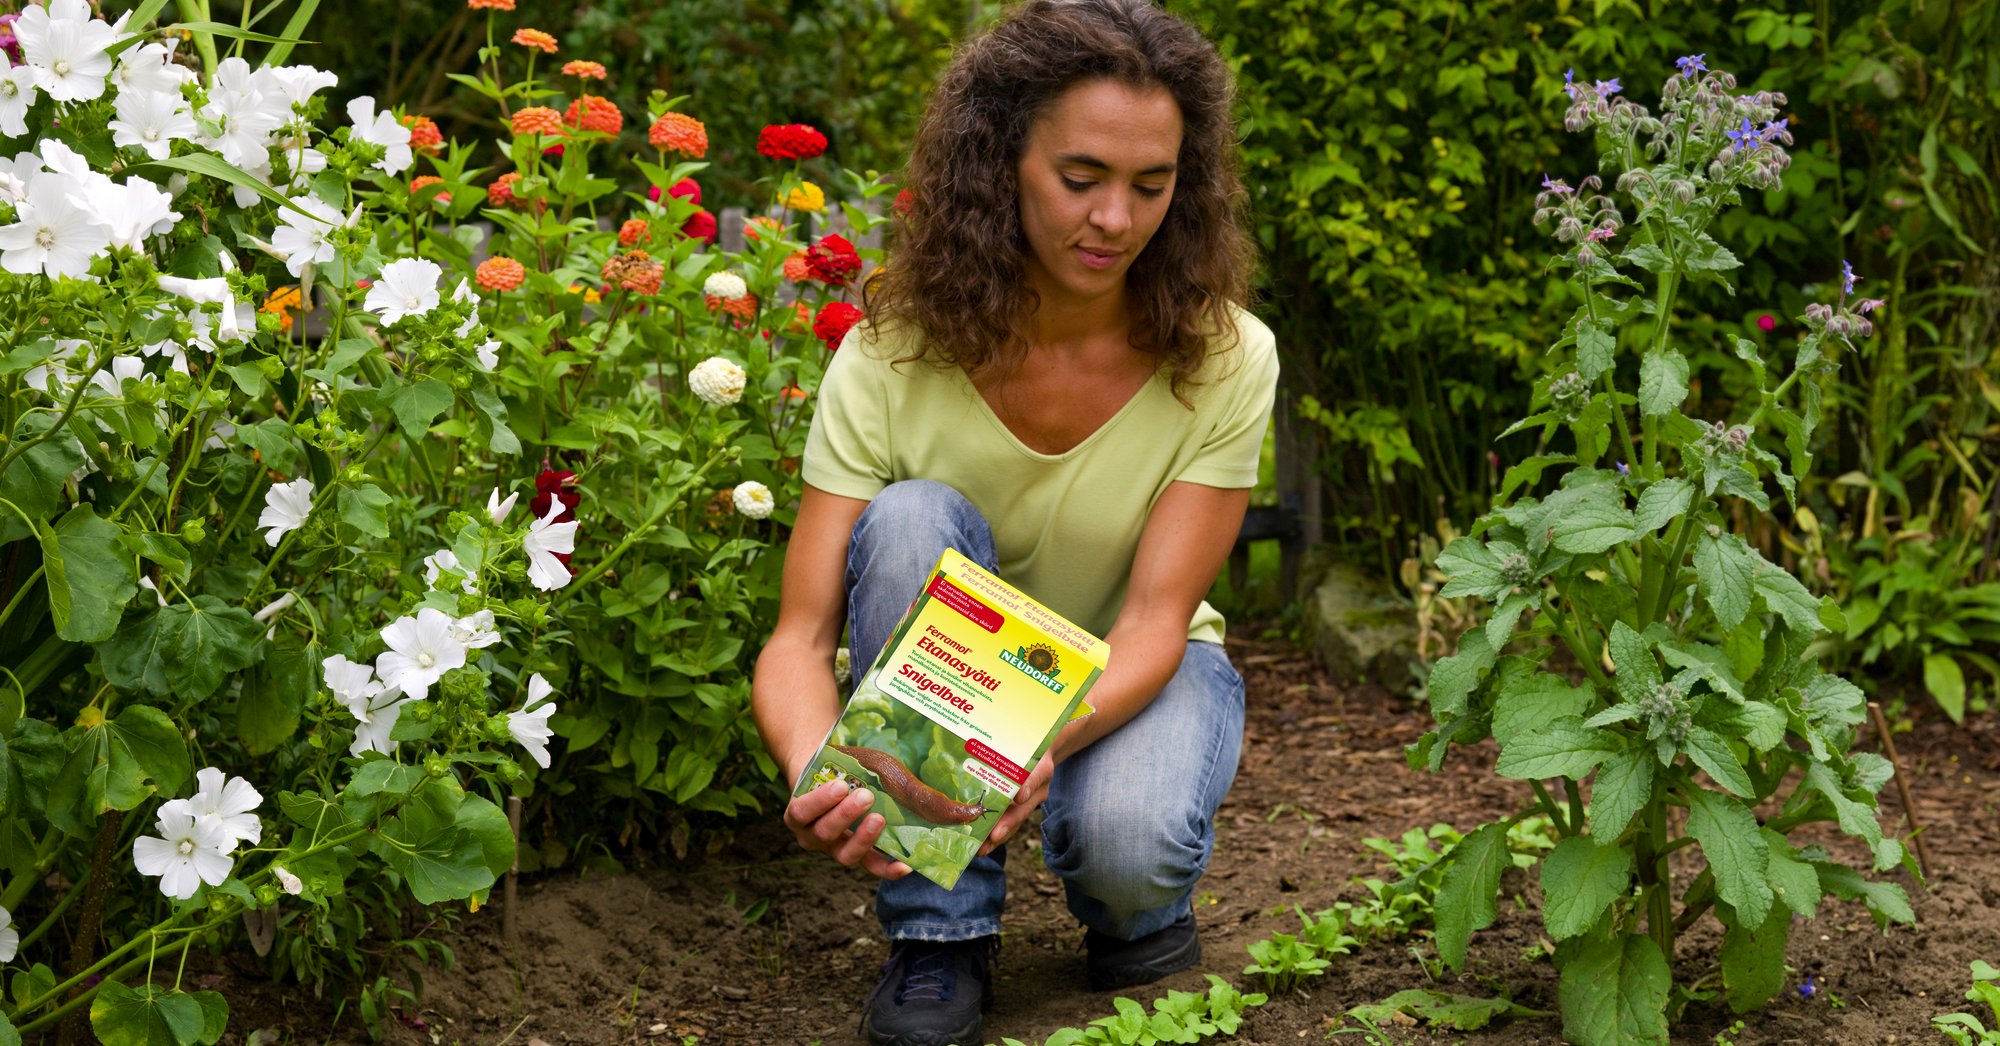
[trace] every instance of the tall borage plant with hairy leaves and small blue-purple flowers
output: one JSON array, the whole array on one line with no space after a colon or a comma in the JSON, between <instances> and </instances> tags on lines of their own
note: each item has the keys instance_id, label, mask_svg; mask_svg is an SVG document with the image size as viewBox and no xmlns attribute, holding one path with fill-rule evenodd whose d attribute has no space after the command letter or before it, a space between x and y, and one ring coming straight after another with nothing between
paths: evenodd
<instances>
[{"instance_id":1,"label":"tall borage plant with hairy leaves and small blue-purple flowers","mask_svg":"<svg viewBox=\"0 0 2000 1046\"><path fill-rule=\"evenodd\" d=\"M1808 306L1808 334L1776 386L1750 342L1730 346L1756 378L1754 402L1732 412L1740 422L1682 412L1690 354L1676 346L1674 306L1690 284L1730 288L1740 262L1706 230L1744 188L1780 188L1790 134L1782 94L1736 94L1736 78L1702 56L1678 66L1658 116L1616 80L1566 86L1570 130L1596 132L1602 168L1618 172L1636 214L1628 224L1596 176L1542 182L1536 224L1554 226L1554 264L1582 306L1552 346L1560 364L1536 384L1538 412L1508 430L1538 430L1536 454L1508 470L1472 536L1438 556L1442 594L1492 610L1438 662L1438 728L1410 750L1414 766L1438 770L1450 744L1492 736L1496 770L1532 782L1530 810L1454 850L1438 950L1464 966L1468 936L1494 920L1506 824L1550 816L1562 842L1542 862L1542 914L1560 942L1564 1034L1588 1046L1664 1044L1668 1020L1714 988L1736 1010L1760 1006L1784 984L1792 918L1810 918L1824 894L1864 900L1882 924L1912 920L1894 884L1788 840L1836 822L1874 870L1908 866L1876 822L1892 766L1850 752L1862 692L1806 656L1840 610L1730 528L1772 508L1766 480L1790 500L1810 466L1820 382L1836 370L1830 352L1870 334L1880 302L1854 298L1842 266L1840 296ZM1620 346L1636 366L1620 366ZM1516 496L1532 488L1548 492ZM1550 664L1558 646L1580 682ZM1676 890L1670 856L1686 846L1708 866ZM1724 928L1720 968L1676 986L1676 936L1708 912Z\"/></svg>"}]
</instances>

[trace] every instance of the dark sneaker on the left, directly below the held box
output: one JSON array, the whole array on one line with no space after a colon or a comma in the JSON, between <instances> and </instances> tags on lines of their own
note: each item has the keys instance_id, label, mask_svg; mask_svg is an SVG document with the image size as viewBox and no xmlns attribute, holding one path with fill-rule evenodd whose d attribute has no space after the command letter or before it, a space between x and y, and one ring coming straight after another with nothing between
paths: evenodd
<instances>
[{"instance_id":1,"label":"dark sneaker on the left, directly below the held box","mask_svg":"<svg viewBox=\"0 0 2000 1046\"><path fill-rule=\"evenodd\" d=\"M862 1010L870 1046L978 1046L1000 938L898 940Z\"/></svg>"}]
</instances>

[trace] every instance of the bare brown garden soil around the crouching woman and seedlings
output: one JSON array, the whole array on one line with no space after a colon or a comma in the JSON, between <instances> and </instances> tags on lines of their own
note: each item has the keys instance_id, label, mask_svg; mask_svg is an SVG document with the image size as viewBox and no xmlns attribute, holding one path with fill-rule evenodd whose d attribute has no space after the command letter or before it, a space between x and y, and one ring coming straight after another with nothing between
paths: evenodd
<instances>
[{"instance_id":1,"label":"bare brown garden soil around the crouching woman and seedlings","mask_svg":"<svg viewBox=\"0 0 2000 1046\"><path fill-rule=\"evenodd\" d=\"M1242 770L1218 814L1216 854L1198 888L1202 964L1126 992L1148 1004L1162 988L1204 988L1202 972L1256 988L1242 976L1246 944L1296 930L1294 906L1312 912L1358 900L1354 878L1382 874L1364 838L1434 822L1472 828L1528 800L1524 784L1492 776L1490 748L1454 750L1436 776L1410 770L1402 748L1422 734L1426 714L1398 696L1332 680L1280 642L1232 640L1230 652L1248 680L1250 714ZM1876 740L1864 734L1860 744ZM2000 722L1986 714L1954 728L1920 716L1900 734L1898 750L1914 768L1938 864L1928 892L1898 874L1920 926L1884 934L1858 904L1828 900L1814 922L1792 932L1788 962L1796 972L1782 996L1742 1018L1732 1042L1942 1042L1930 1018L1968 1006L1962 996L1972 960L2000 960ZM1884 790L1884 812L1900 818L1892 790ZM1842 858L1858 856L1846 840L1816 840ZM1034 1042L1112 1012L1110 994L1084 986L1082 930L1060 884L1032 846L1012 850L990 1042ZM1538 956L1534 876L1508 876L1500 920L1474 934L1464 974L1434 982L1422 962L1434 956L1428 940L1374 946L1336 958L1306 990L1250 1010L1234 1042L1320 1042L1348 1006L1422 986L1506 992L1554 1010L1556 972ZM388 1022L390 1042L846 1046L860 1042L860 1004L886 954L870 880L800 854L776 824L742 832L694 866L534 876L522 882L518 906L512 950L502 942L498 904L458 922L446 938L456 966L424 976L422 1004ZM1718 944L1714 920L1690 932L1676 980L1710 968ZM1800 992L1808 976L1810 996ZM366 1040L352 1014L336 1020L298 986L260 984L248 972L222 972L220 980L236 1002L232 1038L272 1028L282 1040ZM1716 1042L1734 1020L1696 1008L1676 1026L1674 1042ZM1394 1042L1474 1046L1562 1042L1556 1018L1516 1018L1470 1034L1434 1036L1412 1026L1388 1034Z\"/></svg>"}]
</instances>

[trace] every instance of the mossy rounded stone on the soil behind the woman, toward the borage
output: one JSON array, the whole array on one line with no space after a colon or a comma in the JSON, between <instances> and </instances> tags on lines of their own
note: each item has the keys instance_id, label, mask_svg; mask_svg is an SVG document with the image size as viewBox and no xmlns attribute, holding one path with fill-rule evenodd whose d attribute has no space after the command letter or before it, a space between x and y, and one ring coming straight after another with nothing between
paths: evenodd
<instances>
[{"instance_id":1,"label":"mossy rounded stone on the soil behind the woman, toward the borage","mask_svg":"<svg viewBox=\"0 0 2000 1046\"><path fill-rule=\"evenodd\" d=\"M1372 682L1392 692L1416 684L1416 608L1388 582L1332 564L1306 604L1312 652L1340 682Z\"/></svg>"}]
</instances>

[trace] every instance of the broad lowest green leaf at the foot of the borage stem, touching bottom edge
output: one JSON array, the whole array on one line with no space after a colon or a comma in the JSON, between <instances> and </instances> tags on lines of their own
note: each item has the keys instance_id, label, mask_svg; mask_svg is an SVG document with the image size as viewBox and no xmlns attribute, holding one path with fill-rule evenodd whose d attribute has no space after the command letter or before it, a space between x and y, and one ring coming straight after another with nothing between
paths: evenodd
<instances>
[{"instance_id":1,"label":"broad lowest green leaf at the foot of the borage stem, touching bottom edge","mask_svg":"<svg viewBox=\"0 0 2000 1046\"><path fill-rule=\"evenodd\" d=\"M1562 968L1562 1034L1578 1046L1666 1046L1672 974L1648 936L1592 940Z\"/></svg>"}]
</instances>

